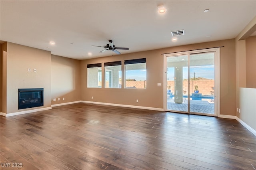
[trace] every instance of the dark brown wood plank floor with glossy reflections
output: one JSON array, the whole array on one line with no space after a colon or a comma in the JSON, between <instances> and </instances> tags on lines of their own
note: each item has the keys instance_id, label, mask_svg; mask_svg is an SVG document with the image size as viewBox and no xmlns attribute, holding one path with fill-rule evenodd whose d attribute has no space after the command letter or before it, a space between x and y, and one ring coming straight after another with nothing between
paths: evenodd
<instances>
[{"instance_id":1,"label":"dark brown wood plank floor with glossy reflections","mask_svg":"<svg viewBox=\"0 0 256 170\"><path fill-rule=\"evenodd\" d=\"M256 168L256 136L232 119L77 103L0 121L1 170Z\"/></svg>"}]
</instances>

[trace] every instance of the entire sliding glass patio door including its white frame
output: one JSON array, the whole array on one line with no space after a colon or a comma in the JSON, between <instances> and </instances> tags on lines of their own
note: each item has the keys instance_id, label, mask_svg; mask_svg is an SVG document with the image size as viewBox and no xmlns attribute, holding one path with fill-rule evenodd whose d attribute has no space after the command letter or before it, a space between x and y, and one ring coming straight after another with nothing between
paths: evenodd
<instances>
[{"instance_id":1,"label":"entire sliding glass patio door including its white frame","mask_svg":"<svg viewBox=\"0 0 256 170\"><path fill-rule=\"evenodd\" d=\"M218 114L218 49L164 55L164 65L166 111Z\"/></svg>"}]
</instances>

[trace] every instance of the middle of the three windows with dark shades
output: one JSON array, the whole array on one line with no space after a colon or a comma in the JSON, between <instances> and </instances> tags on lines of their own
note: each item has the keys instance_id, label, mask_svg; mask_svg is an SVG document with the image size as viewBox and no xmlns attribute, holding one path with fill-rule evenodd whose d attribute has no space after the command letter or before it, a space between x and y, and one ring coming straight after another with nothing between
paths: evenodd
<instances>
[{"instance_id":1,"label":"middle of the three windows with dark shades","mask_svg":"<svg viewBox=\"0 0 256 170\"><path fill-rule=\"evenodd\" d=\"M121 61L104 63L105 67L105 88L122 87Z\"/></svg>"}]
</instances>

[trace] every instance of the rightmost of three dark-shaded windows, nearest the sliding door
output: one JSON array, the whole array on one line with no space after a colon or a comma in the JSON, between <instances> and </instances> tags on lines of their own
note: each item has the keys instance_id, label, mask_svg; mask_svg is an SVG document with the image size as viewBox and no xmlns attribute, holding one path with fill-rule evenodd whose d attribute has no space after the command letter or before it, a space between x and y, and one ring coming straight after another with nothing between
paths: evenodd
<instances>
[{"instance_id":1,"label":"rightmost of three dark-shaded windows, nearest the sliding door","mask_svg":"<svg viewBox=\"0 0 256 170\"><path fill-rule=\"evenodd\" d=\"M146 89L146 58L124 61L125 88Z\"/></svg>"}]
</instances>

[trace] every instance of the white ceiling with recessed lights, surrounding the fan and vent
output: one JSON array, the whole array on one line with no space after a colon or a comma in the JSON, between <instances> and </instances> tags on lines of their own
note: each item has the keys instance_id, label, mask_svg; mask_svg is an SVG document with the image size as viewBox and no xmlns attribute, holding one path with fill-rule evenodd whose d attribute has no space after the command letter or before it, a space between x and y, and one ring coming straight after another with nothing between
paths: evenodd
<instances>
[{"instance_id":1,"label":"white ceiling with recessed lights, surrounding the fan and vent","mask_svg":"<svg viewBox=\"0 0 256 170\"><path fill-rule=\"evenodd\" d=\"M166 13L157 12L160 4ZM0 40L88 59L116 55L91 46L108 40L130 49L121 53L132 53L236 38L256 16L256 1L1 0L0 9ZM172 42L171 32L183 29L185 35Z\"/></svg>"}]
</instances>

